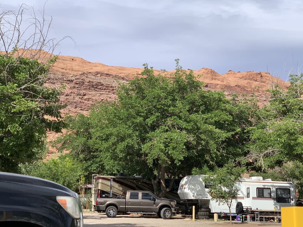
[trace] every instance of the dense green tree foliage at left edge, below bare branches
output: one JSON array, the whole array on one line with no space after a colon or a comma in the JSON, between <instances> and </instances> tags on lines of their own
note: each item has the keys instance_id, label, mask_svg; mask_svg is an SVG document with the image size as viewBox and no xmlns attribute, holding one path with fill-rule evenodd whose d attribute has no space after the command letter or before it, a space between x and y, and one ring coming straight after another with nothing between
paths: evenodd
<instances>
[{"instance_id":1,"label":"dense green tree foliage at left edge, below bare branches","mask_svg":"<svg viewBox=\"0 0 303 227\"><path fill-rule=\"evenodd\" d=\"M16 50L15 50L16 51ZM0 54L0 171L16 171L19 163L35 159L46 130L64 127L60 89L45 87L47 64Z\"/></svg>"}]
</instances>

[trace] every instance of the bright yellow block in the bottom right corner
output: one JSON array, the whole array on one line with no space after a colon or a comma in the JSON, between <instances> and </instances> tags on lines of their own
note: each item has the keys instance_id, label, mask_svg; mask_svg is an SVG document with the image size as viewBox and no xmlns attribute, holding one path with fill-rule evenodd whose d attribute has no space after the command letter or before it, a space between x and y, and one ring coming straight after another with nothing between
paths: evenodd
<instances>
[{"instance_id":1,"label":"bright yellow block in the bottom right corner","mask_svg":"<svg viewBox=\"0 0 303 227\"><path fill-rule=\"evenodd\" d=\"M303 207L290 206L281 208L282 227L301 227Z\"/></svg>"}]
</instances>

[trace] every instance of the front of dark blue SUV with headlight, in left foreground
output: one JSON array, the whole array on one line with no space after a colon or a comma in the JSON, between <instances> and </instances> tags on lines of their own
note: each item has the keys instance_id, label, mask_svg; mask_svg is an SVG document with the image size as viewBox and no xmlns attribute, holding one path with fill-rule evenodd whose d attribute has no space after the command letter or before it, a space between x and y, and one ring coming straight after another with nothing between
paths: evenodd
<instances>
[{"instance_id":1,"label":"front of dark blue SUV with headlight, in left foreground","mask_svg":"<svg viewBox=\"0 0 303 227\"><path fill-rule=\"evenodd\" d=\"M81 202L55 182L0 172L0 226L82 227Z\"/></svg>"}]
</instances>

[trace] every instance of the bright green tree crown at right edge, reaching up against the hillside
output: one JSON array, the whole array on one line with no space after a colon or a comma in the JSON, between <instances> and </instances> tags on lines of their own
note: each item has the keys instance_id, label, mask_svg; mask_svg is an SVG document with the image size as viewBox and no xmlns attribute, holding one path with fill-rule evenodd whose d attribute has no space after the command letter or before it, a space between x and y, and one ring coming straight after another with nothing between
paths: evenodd
<instances>
[{"instance_id":1,"label":"bright green tree crown at right edge, reaching up against the hillside","mask_svg":"<svg viewBox=\"0 0 303 227\"><path fill-rule=\"evenodd\" d=\"M270 104L256 116L251 132L248 159L262 169L281 166L292 160L302 161L303 154L303 74L291 75L290 86L284 90L278 85L269 90Z\"/></svg>"}]
</instances>

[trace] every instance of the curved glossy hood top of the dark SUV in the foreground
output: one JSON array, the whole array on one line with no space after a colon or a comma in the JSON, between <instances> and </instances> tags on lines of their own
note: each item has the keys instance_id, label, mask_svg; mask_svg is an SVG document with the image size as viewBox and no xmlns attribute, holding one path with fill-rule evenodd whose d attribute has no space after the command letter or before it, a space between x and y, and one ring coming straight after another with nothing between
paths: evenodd
<instances>
[{"instance_id":1,"label":"curved glossy hood top of the dark SUV in the foreground","mask_svg":"<svg viewBox=\"0 0 303 227\"><path fill-rule=\"evenodd\" d=\"M55 182L45 180L42 178L38 178L38 177L26 176L26 175L15 174L15 173L0 172L0 182L1 181L15 183L15 184L25 184L25 185L31 185L31 186L38 186L38 187L40 186L40 187L58 189L61 191L68 192L76 197L75 192L62 186L61 184L57 184Z\"/></svg>"}]
</instances>

